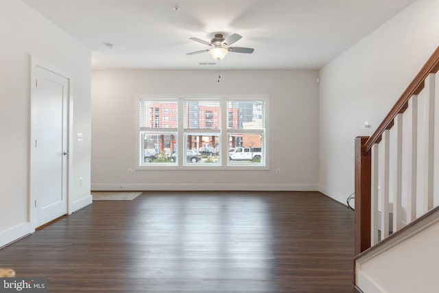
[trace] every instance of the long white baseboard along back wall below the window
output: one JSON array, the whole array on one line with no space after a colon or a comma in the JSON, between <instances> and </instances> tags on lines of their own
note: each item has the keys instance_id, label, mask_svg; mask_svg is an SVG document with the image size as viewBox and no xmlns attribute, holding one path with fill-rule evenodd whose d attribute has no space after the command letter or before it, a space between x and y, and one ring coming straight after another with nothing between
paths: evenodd
<instances>
[{"instance_id":1,"label":"long white baseboard along back wall below the window","mask_svg":"<svg viewBox=\"0 0 439 293\"><path fill-rule=\"evenodd\" d=\"M92 184L101 191L318 191L313 184Z\"/></svg>"}]
</instances>

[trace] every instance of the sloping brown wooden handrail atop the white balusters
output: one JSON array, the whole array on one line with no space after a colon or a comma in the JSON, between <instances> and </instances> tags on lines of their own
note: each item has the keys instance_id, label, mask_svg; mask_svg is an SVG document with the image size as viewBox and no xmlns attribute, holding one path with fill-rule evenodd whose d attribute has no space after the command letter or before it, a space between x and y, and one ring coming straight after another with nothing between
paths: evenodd
<instances>
[{"instance_id":1,"label":"sloping brown wooden handrail atop the white balusters","mask_svg":"<svg viewBox=\"0 0 439 293\"><path fill-rule=\"evenodd\" d=\"M399 113L404 113L407 108L407 102L412 97L412 95L417 95L424 88L424 80L427 78L427 75L430 73L436 73L439 70L439 47L436 48L434 53L431 55L429 60L425 63L422 69L420 69L419 73L416 75L414 80L407 86L407 89L403 92L401 97L399 97L398 101L392 107L392 110L385 116L385 119L377 130L372 134L372 136L366 141L364 145L364 151L370 152L372 145L379 142L381 140L381 135L384 130L392 128L393 119Z\"/></svg>"}]
</instances>

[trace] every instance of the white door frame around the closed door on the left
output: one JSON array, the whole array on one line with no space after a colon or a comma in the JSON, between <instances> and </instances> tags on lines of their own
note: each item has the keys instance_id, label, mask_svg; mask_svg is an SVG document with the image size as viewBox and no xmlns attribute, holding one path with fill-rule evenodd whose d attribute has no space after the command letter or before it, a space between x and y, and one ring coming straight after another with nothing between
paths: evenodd
<instances>
[{"instance_id":1,"label":"white door frame around the closed door on the left","mask_svg":"<svg viewBox=\"0 0 439 293\"><path fill-rule=\"evenodd\" d=\"M61 69L58 69L57 67L49 64L48 62L45 62L43 60L40 60L36 58L35 56L29 56L30 57L30 79L29 79L29 87L30 87L30 134L29 134L29 201L27 202L27 208L28 208L28 221L29 221L29 228L30 233L35 231L35 228L37 227L37 219L36 219L36 191L35 191L35 174L38 172L38 168L35 164L35 148L34 146L34 136L36 133L36 113L34 111L35 109L35 83L36 83L36 68L45 69L47 71L51 71L52 73L55 73L57 75L62 76L63 78L66 78L69 81L69 90L68 90L68 103L67 103L67 146L66 150L69 152L69 156L67 156L67 194L66 194L66 200L67 200L67 214L71 214L73 211L71 211L72 202L71 202L71 187L72 185L72 174L73 174L73 80L72 75L70 73L67 73L66 71L63 71Z\"/></svg>"}]
</instances>

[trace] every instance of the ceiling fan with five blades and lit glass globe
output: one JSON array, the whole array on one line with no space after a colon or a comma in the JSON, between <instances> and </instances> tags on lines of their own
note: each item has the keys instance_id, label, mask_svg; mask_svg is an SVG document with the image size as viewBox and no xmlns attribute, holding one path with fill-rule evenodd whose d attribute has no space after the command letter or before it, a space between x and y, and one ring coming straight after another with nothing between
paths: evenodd
<instances>
[{"instance_id":1,"label":"ceiling fan with five blades and lit glass globe","mask_svg":"<svg viewBox=\"0 0 439 293\"><path fill-rule=\"evenodd\" d=\"M206 40L202 40L201 38L190 38L191 40L195 40L195 42L208 45L211 48L190 52L187 53L187 55L200 54L209 51L209 53L213 56L213 58L219 60L224 58L224 56L226 56L228 52L252 54L254 51L253 48L229 47L230 45L237 42L241 38L242 36L239 34L232 34L228 36L228 38L224 38L223 34L215 34L215 36L211 39L210 42Z\"/></svg>"}]
</instances>

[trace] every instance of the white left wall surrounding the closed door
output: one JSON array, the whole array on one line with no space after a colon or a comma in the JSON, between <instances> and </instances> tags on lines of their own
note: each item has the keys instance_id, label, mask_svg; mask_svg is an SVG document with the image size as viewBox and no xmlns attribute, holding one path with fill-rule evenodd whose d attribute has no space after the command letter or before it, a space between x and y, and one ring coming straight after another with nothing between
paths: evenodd
<instances>
[{"instance_id":1,"label":"white left wall surrounding the closed door","mask_svg":"<svg viewBox=\"0 0 439 293\"><path fill-rule=\"evenodd\" d=\"M71 198L75 208L90 196L91 51L22 1L0 1L0 246L28 233L30 58L73 77L74 143ZM76 180L73 180L76 183Z\"/></svg>"}]
</instances>

